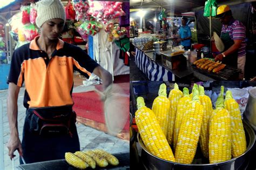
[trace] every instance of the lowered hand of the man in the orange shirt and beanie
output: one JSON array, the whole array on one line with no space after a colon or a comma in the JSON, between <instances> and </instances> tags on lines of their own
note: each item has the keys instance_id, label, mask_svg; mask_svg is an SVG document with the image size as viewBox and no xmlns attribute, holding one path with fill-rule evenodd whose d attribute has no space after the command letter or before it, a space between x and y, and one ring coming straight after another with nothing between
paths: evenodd
<instances>
[{"instance_id":1,"label":"lowered hand of the man in the orange shirt and beanie","mask_svg":"<svg viewBox=\"0 0 256 170\"><path fill-rule=\"evenodd\" d=\"M19 140L19 137L16 135L9 139L7 147L9 149L8 155L9 155L10 159L16 157L16 155L14 155L14 152L16 151L16 149L19 149L19 151L21 151L21 154L23 154L21 140Z\"/></svg>"}]
</instances>

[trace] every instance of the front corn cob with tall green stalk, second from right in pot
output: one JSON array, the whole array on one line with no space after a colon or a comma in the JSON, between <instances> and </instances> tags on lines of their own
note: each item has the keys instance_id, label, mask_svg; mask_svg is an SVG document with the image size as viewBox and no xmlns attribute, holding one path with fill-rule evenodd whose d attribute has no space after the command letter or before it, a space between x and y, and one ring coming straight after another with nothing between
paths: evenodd
<instances>
[{"instance_id":1,"label":"front corn cob with tall green stalk, second from right in pot","mask_svg":"<svg viewBox=\"0 0 256 170\"><path fill-rule=\"evenodd\" d=\"M231 118L224 108L224 86L216 101L216 109L210 121L209 159L210 164L231 159Z\"/></svg>"}]
</instances>

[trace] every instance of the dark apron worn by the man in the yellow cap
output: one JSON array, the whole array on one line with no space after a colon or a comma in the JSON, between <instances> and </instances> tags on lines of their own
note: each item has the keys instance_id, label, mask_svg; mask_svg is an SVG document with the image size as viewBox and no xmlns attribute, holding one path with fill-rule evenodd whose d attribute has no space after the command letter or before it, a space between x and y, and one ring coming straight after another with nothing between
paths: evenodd
<instances>
[{"instance_id":1,"label":"dark apron worn by the man in the yellow cap","mask_svg":"<svg viewBox=\"0 0 256 170\"><path fill-rule=\"evenodd\" d=\"M220 39L223 41L225 45L224 51L229 49L234 44L234 40L230 38L230 35L228 32L221 33ZM238 57L238 51L235 51L231 55L224 57L222 60L222 63L237 67L237 57Z\"/></svg>"}]
</instances>

